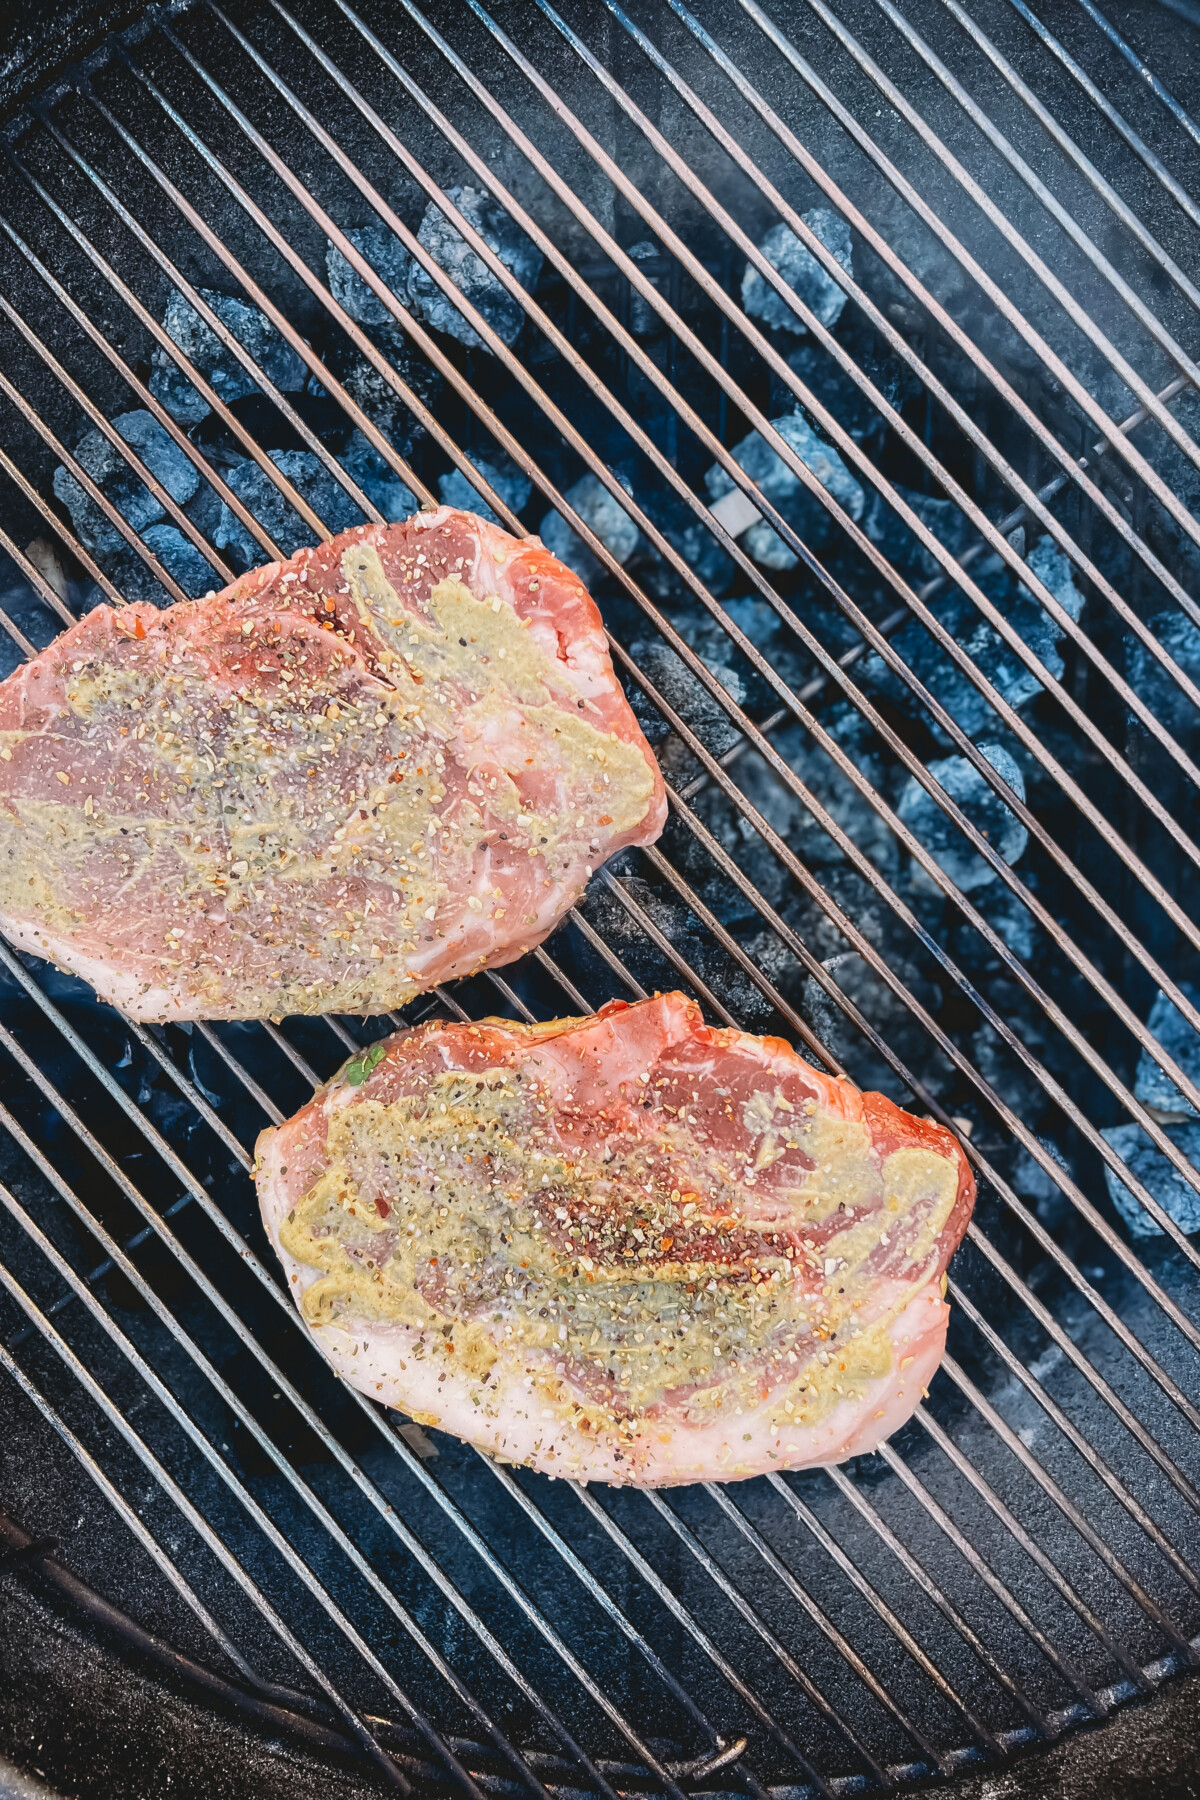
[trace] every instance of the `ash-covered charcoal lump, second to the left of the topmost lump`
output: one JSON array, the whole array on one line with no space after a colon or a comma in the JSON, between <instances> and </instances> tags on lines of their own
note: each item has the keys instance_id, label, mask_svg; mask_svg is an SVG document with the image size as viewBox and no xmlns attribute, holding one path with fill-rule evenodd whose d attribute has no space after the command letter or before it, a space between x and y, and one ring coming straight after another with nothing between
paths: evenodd
<instances>
[{"instance_id":1,"label":"ash-covered charcoal lump, second to the left of the topmost lump","mask_svg":"<svg viewBox=\"0 0 1200 1800\"><path fill-rule=\"evenodd\" d=\"M275 387L293 394L304 387L308 373L304 364L257 306L236 301L230 293L218 293L214 288L200 288L198 293ZM194 364L223 401L228 403L239 400L243 394L257 392L257 383L243 369L234 353L221 344L196 308L175 288L162 315L162 324L167 337L180 346L189 362ZM153 351L149 360L149 391L155 400L180 425L198 425L209 412L207 400L196 392L164 349Z\"/></svg>"}]
</instances>

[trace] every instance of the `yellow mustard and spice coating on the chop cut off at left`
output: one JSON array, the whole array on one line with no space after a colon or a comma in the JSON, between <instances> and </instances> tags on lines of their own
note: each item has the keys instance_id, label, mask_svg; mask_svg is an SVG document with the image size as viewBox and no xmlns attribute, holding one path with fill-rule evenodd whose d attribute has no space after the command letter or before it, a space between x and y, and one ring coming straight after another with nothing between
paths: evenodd
<instances>
[{"instance_id":1,"label":"yellow mustard and spice coating on the chop cut off at left","mask_svg":"<svg viewBox=\"0 0 1200 1800\"><path fill-rule=\"evenodd\" d=\"M603 727L506 599L448 576L408 610L363 542L340 574L367 670L311 623L333 599L308 589L299 628L286 589L270 614L219 616L219 686L184 626L65 670L58 731L0 734L0 914L45 931L47 954L79 943L216 1015L246 979L266 1013L380 1012L426 986L464 907L502 941L536 922L482 873L497 833L540 886L581 886L646 817L642 747ZM522 803L531 772L540 810Z\"/></svg>"}]
</instances>

